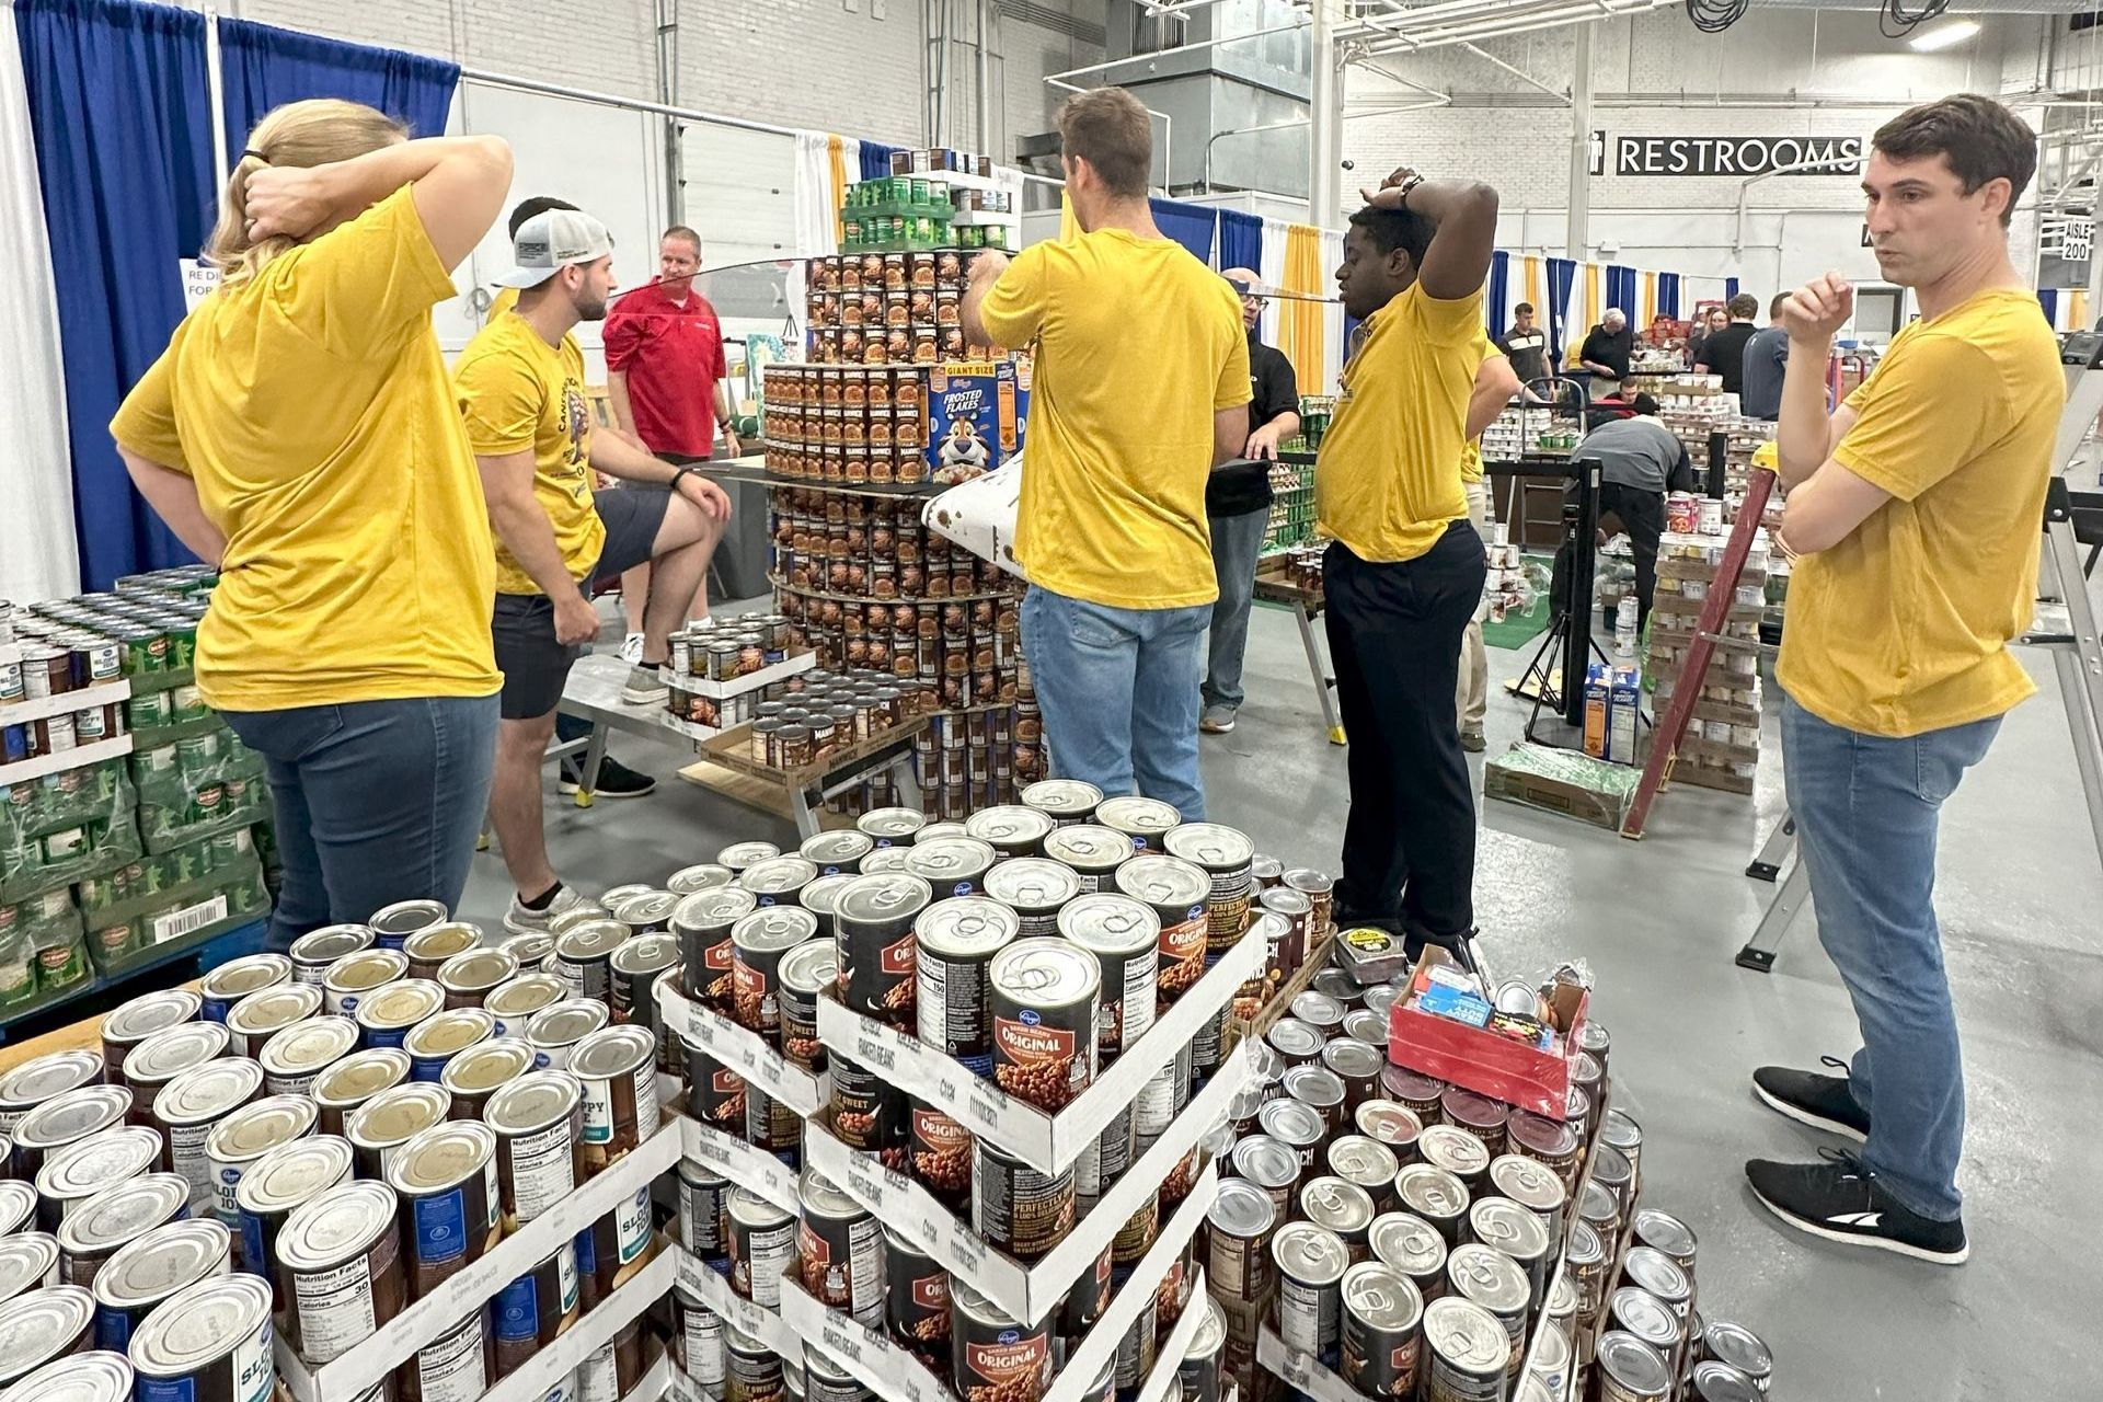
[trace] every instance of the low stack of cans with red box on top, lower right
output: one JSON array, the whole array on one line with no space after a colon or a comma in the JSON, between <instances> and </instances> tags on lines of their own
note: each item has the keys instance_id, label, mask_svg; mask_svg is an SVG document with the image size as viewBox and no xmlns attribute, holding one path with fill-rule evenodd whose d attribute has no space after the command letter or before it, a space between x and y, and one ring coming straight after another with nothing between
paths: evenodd
<instances>
[{"instance_id":1,"label":"low stack of cans with red box on top, lower right","mask_svg":"<svg viewBox=\"0 0 2103 1402\"><path fill-rule=\"evenodd\" d=\"M1281 1387L1255 1366L1264 1326L1367 1398L1764 1391L1764 1345L1695 1310L1695 1234L1636 1202L1642 1129L1609 1106L1607 1028L1584 1024L1552 1120L1388 1064L1396 992L1325 971L1234 1106L1203 1259L1243 1396Z\"/></svg>"}]
</instances>

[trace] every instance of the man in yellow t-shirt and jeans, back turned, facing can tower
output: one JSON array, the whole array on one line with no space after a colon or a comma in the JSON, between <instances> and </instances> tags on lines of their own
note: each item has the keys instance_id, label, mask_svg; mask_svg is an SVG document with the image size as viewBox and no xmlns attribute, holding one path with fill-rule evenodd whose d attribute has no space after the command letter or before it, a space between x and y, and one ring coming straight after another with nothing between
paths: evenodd
<instances>
[{"instance_id":1,"label":"man in yellow t-shirt and jeans, back turned, facing can tower","mask_svg":"<svg viewBox=\"0 0 2103 1402\"><path fill-rule=\"evenodd\" d=\"M980 254L963 330L1037 341L1016 559L1052 763L1197 822L1199 650L1220 593L1205 481L1249 441L1249 343L1234 290L1155 227L1148 122L1123 88L1066 99L1081 235Z\"/></svg>"}]
</instances>

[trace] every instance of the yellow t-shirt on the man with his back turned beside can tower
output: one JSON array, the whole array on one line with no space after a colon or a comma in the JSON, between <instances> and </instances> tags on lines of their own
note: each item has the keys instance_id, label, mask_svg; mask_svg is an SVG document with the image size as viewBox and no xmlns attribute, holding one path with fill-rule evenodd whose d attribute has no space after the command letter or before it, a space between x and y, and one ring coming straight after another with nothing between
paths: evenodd
<instances>
[{"instance_id":1,"label":"yellow t-shirt on the man with his back turned beside can tower","mask_svg":"<svg viewBox=\"0 0 2103 1402\"><path fill-rule=\"evenodd\" d=\"M1096 229L1024 248L980 315L1003 347L1039 343L1016 521L1030 582L1110 607L1218 599L1211 416L1249 401L1234 290L1171 240Z\"/></svg>"}]
</instances>

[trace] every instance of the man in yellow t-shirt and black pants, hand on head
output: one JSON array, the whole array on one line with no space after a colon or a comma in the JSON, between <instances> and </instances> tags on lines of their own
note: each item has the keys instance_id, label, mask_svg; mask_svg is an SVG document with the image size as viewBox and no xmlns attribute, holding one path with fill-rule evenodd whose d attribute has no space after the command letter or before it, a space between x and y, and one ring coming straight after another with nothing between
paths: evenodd
<instances>
[{"instance_id":1,"label":"man in yellow t-shirt and black pants, hand on head","mask_svg":"<svg viewBox=\"0 0 2103 1402\"><path fill-rule=\"evenodd\" d=\"M1314 465L1329 658L1350 736L1338 921L1462 946L1474 931L1474 786L1453 725L1483 601L1462 450L1483 366L1497 191L1396 170L1350 217L1335 280L1365 338Z\"/></svg>"}]
</instances>

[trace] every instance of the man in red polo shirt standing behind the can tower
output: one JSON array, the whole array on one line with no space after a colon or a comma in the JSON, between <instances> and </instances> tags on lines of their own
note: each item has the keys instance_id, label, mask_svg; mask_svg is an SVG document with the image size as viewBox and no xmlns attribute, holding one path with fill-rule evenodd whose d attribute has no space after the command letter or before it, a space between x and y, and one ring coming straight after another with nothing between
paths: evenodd
<instances>
[{"instance_id":1,"label":"man in red polo shirt standing behind the can tower","mask_svg":"<svg viewBox=\"0 0 2103 1402\"><path fill-rule=\"evenodd\" d=\"M656 280L622 294L606 317L606 389L614 422L662 458L711 456L717 422L723 425L730 456L740 452L732 427L723 324L715 319L709 298L694 290L698 271L700 235L673 225L658 240ZM629 610L629 637L639 645L641 603L650 597L648 565L637 565L631 574L639 578L620 580L620 599ZM705 580L694 595L694 616L707 614Z\"/></svg>"}]
</instances>

